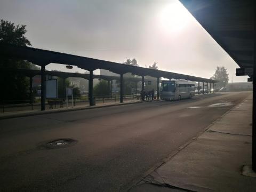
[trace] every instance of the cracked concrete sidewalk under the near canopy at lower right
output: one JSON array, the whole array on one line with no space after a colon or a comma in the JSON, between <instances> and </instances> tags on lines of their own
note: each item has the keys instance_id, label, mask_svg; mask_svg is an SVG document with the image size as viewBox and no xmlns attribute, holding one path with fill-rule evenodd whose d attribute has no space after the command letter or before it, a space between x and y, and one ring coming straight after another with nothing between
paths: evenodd
<instances>
[{"instance_id":1,"label":"cracked concrete sidewalk under the near canopy at lower right","mask_svg":"<svg viewBox=\"0 0 256 192\"><path fill-rule=\"evenodd\" d=\"M256 191L251 165L252 95L129 191Z\"/></svg>"}]
</instances>

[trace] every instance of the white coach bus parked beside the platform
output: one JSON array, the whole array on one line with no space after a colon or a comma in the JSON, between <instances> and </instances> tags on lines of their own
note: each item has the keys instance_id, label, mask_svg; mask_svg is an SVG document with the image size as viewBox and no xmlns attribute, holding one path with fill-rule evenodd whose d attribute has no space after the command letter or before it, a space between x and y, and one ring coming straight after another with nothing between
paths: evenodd
<instances>
[{"instance_id":1,"label":"white coach bus parked beside the platform","mask_svg":"<svg viewBox=\"0 0 256 192\"><path fill-rule=\"evenodd\" d=\"M164 100L180 100L195 95L195 83L180 79L162 81L160 97Z\"/></svg>"}]
</instances>

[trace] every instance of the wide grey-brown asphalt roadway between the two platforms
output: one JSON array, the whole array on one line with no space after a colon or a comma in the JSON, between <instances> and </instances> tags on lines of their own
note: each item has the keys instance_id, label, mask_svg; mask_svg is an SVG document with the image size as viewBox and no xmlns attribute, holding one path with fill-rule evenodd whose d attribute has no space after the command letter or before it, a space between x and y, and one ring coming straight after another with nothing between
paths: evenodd
<instances>
[{"instance_id":1,"label":"wide grey-brown asphalt roadway between the two platforms","mask_svg":"<svg viewBox=\"0 0 256 192\"><path fill-rule=\"evenodd\" d=\"M1 120L0 191L125 189L249 94L230 92ZM42 147L60 138L77 143Z\"/></svg>"}]
</instances>

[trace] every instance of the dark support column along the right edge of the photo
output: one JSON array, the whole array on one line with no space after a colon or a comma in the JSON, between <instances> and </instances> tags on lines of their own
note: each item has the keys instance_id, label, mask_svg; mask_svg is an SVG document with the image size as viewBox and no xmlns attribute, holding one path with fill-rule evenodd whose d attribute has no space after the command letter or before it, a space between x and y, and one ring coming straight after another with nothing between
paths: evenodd
<instances>
[{"instance_id":1,"label":"dark support column along the right edge of the photo","mask_svg":"<svg viewBox=\"0 0 256 192\"><path fill-rule=\"evenodd\" d=\"M252 96L252 170L256 172L256 13L254 3L253 96Z\"/></svg>"}]
</instances>

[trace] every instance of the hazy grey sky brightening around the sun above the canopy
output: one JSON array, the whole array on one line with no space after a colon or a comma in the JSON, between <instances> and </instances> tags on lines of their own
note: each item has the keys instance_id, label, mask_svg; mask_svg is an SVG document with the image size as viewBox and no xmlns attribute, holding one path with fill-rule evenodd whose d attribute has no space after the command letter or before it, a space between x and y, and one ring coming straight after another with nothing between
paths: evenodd
<instances>
[{"instance_id":1,"label":"hazy grey sky brightening around the sun above the canopy","mask_svg":"<svg viewBox=\"0 0 256 192\"><path fill-rule=\"evenodd\" d=\"M237 64L178 0L0 0L0 18L27 25L33 47L209 78ZM50 64L46 69L68 70Z\"/></svg>"}]
</instances>

